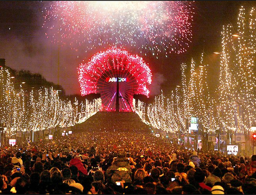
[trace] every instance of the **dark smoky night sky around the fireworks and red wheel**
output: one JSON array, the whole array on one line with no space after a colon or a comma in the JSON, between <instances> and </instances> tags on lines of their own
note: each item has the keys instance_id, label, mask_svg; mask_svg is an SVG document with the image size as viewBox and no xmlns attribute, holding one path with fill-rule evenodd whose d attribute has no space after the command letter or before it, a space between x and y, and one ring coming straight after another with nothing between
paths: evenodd
<instances>
[{"instance_id":1,"label":"dark smoky night sky around the fireworks and red wheel","mask_svg":"<svg viewBox=\"0 0 256 195\"><path fill-rule=\"evenodd\" d=\"M210 64L208 72L216 79L219 58L213 52L221 51L222 27L237 23L241 5L256 7L256 1L195 1L193 38L187 52L160 59L141 56L153 74L150 96L161 89L166 93L173 90L181 83L180 64L190 64L191 58L200 61L202 52ZM98 51L85 54L61 47L58 83L58 48L45 36L42 9L39 1L0 1L0 58L13 69L42 74L47 81L60 84L67 95L79 94L77 67Z\"/></svg>"}]
</instances>

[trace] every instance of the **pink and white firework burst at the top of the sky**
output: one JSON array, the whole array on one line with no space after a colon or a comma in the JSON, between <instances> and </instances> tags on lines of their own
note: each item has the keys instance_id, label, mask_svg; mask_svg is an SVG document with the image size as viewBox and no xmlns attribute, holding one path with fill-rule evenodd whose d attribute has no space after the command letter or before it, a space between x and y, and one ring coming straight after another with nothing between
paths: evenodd
<instances>
[{"instance_id":1,"label":"pink and white firework burst at the top of the sky","mask_svg":"<svg viewBox=\"0 0 256 195\"><path fill-rule=\"evenodd\" d=\"M57 1L45 8L46 36L71 48L126 47L156 57L186 51L190 1Z\"/></svg>"}]
</instances>

